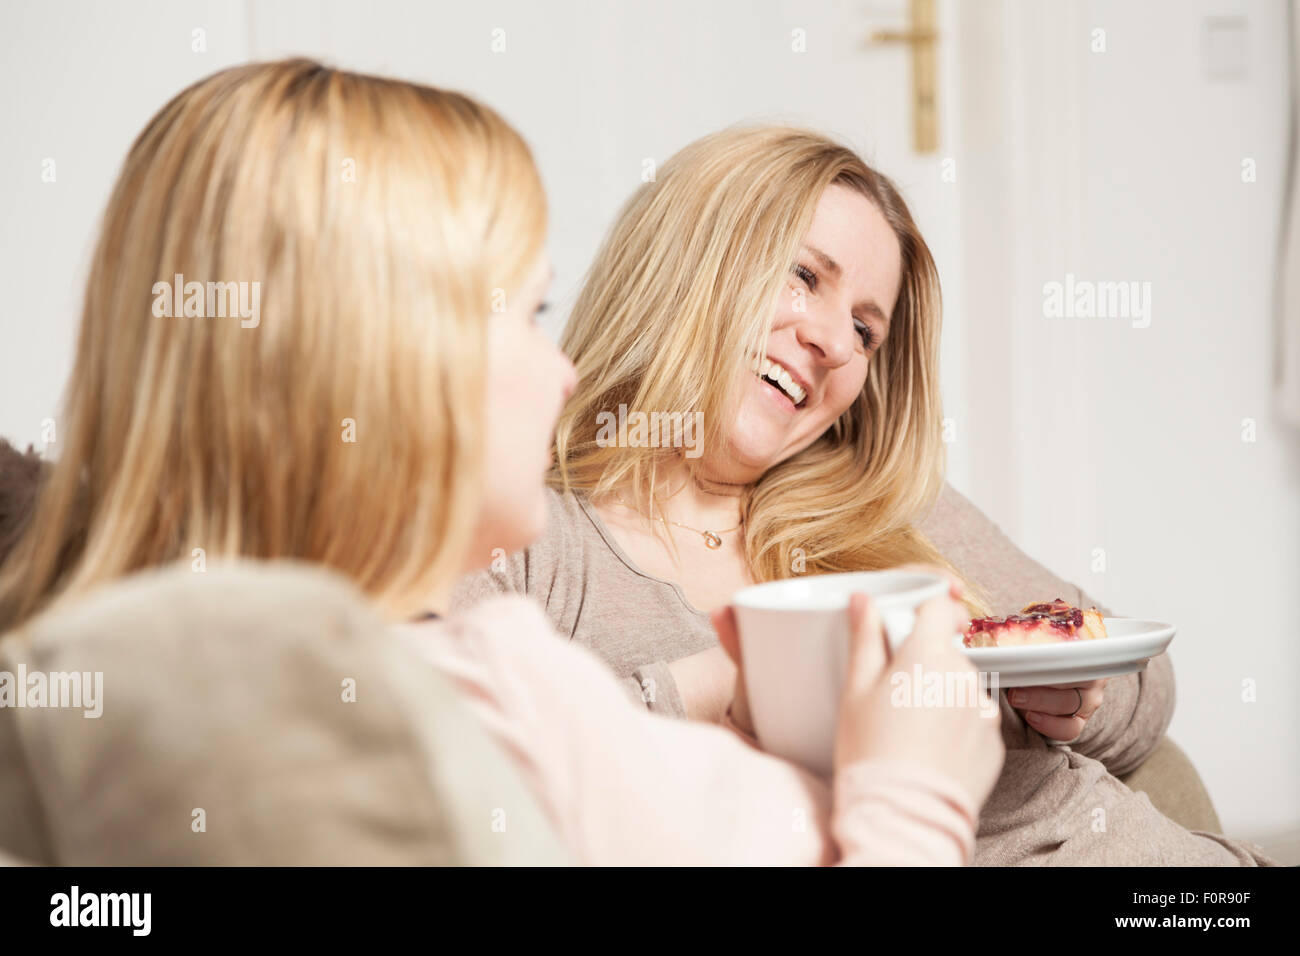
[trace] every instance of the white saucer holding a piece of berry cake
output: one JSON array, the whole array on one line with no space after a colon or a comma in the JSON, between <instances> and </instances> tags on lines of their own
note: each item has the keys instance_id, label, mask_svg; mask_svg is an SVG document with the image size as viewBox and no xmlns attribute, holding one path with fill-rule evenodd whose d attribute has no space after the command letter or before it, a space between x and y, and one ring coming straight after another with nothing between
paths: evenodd
<instances>
[{"instance_id":1,"label":"white saucer holding a piece of berry cake","mask_svg":"<svg viewBox=\"0 0 1300 956\"><path fill-rule=\"evenodd\" d=\"M980 671L996 672L998 688L1075 684L1147 670L1174 640L1174 626L1158 620L1105 618L1106 637L1095 641L962 648Z\"/></svg>"}]
</instances>

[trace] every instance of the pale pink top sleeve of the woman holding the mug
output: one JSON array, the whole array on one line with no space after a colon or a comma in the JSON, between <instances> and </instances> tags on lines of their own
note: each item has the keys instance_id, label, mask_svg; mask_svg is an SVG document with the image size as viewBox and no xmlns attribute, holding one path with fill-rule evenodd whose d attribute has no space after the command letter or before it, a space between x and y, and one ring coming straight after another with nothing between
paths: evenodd
<instances>
[{"instance_id":1,"label":"pale pink top sleeve of the woman holding the mug","mask_svg":"<svg viewBox=\"0 0 1300 956\"><path fill-rule=\"evenodd\" d=\"M634 706L526 598L399 633L459 684L585 864L811 866L841 848L849 864L968 860L972 825L945 779L864 763L832 801L824 780L723 727Z\"/></svg>"}]
</instances>

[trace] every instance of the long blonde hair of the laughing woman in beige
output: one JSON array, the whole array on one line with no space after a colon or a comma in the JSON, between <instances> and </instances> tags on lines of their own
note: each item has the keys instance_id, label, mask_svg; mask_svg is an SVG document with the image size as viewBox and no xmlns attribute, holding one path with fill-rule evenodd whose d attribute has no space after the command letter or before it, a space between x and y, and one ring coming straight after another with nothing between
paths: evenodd
<instances>
[{"instance_id":1,"label":"long blonde hair of the laughing woman in beige","mask_svg":"<svg viewBox=\"0 0 1300 956\"><path fill-rule=\"evenodd\" d=\"M619 486L646 503L680 454L612 447L597 416L701 411L723 447L733 384L766 354L777 294L831 185L870 199L902 254L890 333L853 406L810 447L772 467L742 503L755 580L949 562L915 528L944 480L939 274L893 183L816 133L728 129L696 140L630 198L575 304L562 346L577 390L556 433L554 486ZM975 609L983 609L976 597Z\"/></svg>"}]
</instances>

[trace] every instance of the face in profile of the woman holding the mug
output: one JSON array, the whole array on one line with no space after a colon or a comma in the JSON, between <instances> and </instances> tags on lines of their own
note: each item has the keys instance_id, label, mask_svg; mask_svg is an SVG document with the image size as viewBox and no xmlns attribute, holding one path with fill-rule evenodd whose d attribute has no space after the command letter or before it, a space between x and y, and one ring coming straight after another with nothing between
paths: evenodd
<instances>
[{"instance_id":1,"label":"face in profile of the woman holding the mug","mask_svg":"<svg viewBox=\"0 0 1300 956\"><path fill-rule=\"evenodd\" d=\"M471 567L490 563L498 548L524 548L546 528L555 420L576 384L573 365L537 324L550 284L543 255L506 311L488 317L486 475Z\"/></svg>"}]
</instances>

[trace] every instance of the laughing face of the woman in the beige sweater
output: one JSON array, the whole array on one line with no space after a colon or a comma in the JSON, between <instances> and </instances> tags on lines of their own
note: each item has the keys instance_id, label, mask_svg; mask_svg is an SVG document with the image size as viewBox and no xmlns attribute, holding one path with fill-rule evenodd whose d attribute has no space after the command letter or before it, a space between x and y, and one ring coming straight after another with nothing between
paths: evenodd
<instances>
[{"instance_id":1,"label":"laughing face of the woman in the beige sweater","mask_svg":"<svg viewBox=\"0 0 1300 956\"><path fill-rule=\"evenodd\" d=\"M705 454L708 479L757 481L853 405L867 363L889 334L901 276L898 239L875 203L844 186L828 187L777 299L767 355L740 386L727 447ZM764 381L764 371L780 384Z\"/></svg>"}]
</instances>

